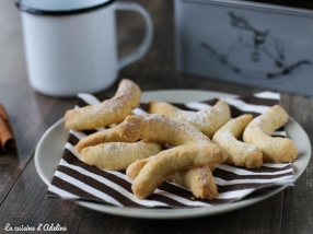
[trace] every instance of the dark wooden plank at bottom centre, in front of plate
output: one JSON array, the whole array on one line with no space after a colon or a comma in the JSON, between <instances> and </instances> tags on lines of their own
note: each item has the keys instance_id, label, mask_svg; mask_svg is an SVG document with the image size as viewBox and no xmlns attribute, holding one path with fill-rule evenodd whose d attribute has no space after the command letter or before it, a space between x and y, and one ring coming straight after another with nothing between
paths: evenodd
<instances>
[{"instance_id":1,"label":"dark wooden plank at bottom centre, in front of plate","mask_svg":"<svg viewBox=\"0 0 313 234\"><path fill-rule=\"evenodd\" d=\"M124 233L280 233L281 197L280 192L251 207L212 217L162 221L132 220L127 223Z\"/></svg>"}]
</instances>

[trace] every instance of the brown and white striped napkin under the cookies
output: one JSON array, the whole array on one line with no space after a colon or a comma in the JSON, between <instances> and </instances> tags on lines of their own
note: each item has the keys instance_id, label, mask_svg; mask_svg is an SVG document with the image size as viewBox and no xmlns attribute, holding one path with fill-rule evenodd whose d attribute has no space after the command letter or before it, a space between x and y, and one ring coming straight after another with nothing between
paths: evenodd
<instances>
[{"instance_id":1,"label":"brown and white striped napkin under the cookies","mask_svg":"<svg viewBox=\"0 0 313 234\"><path fill-rule=\"evenodd\" d=\"M279 103L279 94L263 92L239 98L227 98L231 107L232 117L244 113L257 116L270 106ZM213 105L218 100L201 103L173 103L177 107L187 110L198 110ZM100 101L90 94L78 96L77 107L96 104ZM147 104L141 104L135 113L146 113ZM68 141L59 166L54 175L47 195L62 199L80 199L102 202L117 207L208 207L221 203L234 202L247 196L254 196L255 191L262 192L271 186L292 185L294 175L292 164L264 164L258 169L246 169L232 165L221 164L213 172L218 185L219 197L215 200L201 200L193 197L193 194L181 186L165 182L161 184L154 194L147 199L138 200L131 192L131 180L125 172L103 171L89 166L79 160L79 153L74 145L79 139L95 132L72 131L69 132ZM285 137L283 129L278 129L275 136Z\"/></svg>"}]
</instances>

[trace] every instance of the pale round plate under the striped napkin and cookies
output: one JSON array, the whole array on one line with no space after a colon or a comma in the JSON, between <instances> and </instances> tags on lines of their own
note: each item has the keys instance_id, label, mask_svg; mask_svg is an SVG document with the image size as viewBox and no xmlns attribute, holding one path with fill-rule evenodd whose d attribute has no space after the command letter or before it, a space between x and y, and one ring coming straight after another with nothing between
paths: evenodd
<instances>
[{"instance_id":1,"label":"pale round plate under the striped napkin and cookies","mask_svg":"<svg viewBox=\"0 0 313 234\"><path fill-rule=\"evenodd\" d=\"M152 100L167 101L173 103L186 103L186 102L200 102L215 97L234 97L234 95L207 92L207 91L190 91L190 90L167 90L167 91L153 91L144 92L142 94L142 102L149 102ZM53 125L46 133L42 137L35 151L35 166L38 175L49 185L53 180L54 173L56 172L59 161L63 153L63 147L68 139L68 131L63 127L63 119L60 119ZM295 178L304 172L311 157L311 143L309 137L302 127L290 119L286 126L288 137L290 137L299 149L299 156L293 163ZM116 215L131 217L131 218L144 218L144 219L182 219L182 218L195 218L201 215L212 215L223 212L229 212L243 207L262 201L269 198L286 187L275 187L267 189L257 196L245 198L237 202L212 206L209 208L178 208L178 209L147 209L147 208L119 208L108 204L100 204L89 201L74 201L78 204Z\"/></svg>"}]
</instances>

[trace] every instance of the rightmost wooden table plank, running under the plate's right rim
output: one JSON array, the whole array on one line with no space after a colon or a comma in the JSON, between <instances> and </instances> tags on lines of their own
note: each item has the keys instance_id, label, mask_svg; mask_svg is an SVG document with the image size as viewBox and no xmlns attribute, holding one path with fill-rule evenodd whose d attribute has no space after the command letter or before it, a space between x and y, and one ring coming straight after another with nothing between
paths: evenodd
<instances>
[{"instance_id":1,"label":"rightmost wooden table plank, running under the plate's right rim","mask_svg":"<svg viewBox=\"0 0 313 234\"><path fill-rule=\"evenodd\" d=\"M288 113L313 139L313 100L301 95L285 95ZM312 142L311 142L312 144ZM312 149L311 149L312 150ZM313 233L313 159L297 180L285 192L282 233ZM305 207L311 209L304 209Z\"/></svg>"}]
</instances>

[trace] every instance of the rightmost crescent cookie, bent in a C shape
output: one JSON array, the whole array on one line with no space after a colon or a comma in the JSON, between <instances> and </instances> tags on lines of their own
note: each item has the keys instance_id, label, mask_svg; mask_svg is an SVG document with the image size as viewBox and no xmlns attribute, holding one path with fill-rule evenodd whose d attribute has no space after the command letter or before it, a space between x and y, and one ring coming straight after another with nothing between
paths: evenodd
<instances>
[{"instance_id":1,"label":"rightmost crescent cookie, bent in a C shape","mask_svg":"<svg viewBox=\"0 0 313 234\"><path fill-rule=\"evenodd\" d=\"M275 105L247 125L243 141L256 145L263 153L264 162L292 162L298 155L295 144L288 138L271 137L275 130L287 122L286 110Z\"/></svg>"}]
</instances>

